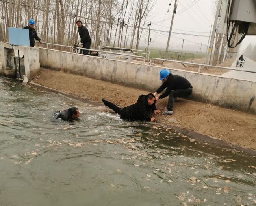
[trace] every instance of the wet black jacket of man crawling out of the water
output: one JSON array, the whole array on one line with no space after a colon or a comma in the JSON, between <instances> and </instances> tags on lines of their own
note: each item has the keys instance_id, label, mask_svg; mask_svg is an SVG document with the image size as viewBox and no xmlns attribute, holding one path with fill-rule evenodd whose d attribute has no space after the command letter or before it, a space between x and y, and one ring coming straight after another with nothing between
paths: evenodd
<instances>
[{"instance_id":1,"label":"wet black jacket of man crawling out of the water","mask_svg":"<svg viewBox=\"0 0 256 206\"><path fill-rule=\"evenodd\" d=\"M149 121L151 118L148 116L150 111L156 110L156 102L148 105L147 95L140 95L137 102L127 106L121 110L120 118L128 119L131 121Z\"/></svg>"}]
</instances>

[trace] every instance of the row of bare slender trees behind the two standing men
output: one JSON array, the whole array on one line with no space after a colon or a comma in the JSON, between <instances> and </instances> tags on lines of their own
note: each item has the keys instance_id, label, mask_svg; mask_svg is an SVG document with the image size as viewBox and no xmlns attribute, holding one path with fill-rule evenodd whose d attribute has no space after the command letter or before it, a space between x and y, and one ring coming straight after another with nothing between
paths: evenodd
<instances>
[{"instance_id":1,"label":"row of bare slender trees behind the two standing men","mask_svg":"<svg viewBox=\"0 0 256 206\"><path fill-rule=\"evenodd\" d=\"M77 42L76 21L87 26L92 48L105 45L138 49L147 18L156 0L0 0L0 40L8 40L8 27L22 28L28 19L45 42Z\"/></svg>"}]
</instances>

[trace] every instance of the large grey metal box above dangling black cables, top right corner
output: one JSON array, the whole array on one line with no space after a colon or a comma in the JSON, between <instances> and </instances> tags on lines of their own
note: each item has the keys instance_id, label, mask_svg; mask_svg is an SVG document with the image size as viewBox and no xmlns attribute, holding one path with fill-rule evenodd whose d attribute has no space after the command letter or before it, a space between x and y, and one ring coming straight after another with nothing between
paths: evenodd
<instances>
[{"instance_id":1,"label":"large grey metal box above dangling black cables, top right corner","mask_svg":"<svg viewBox=\"0 0 256 206\"><path fill-rule=\"evenodd\" d=\"M256 23L256 0L232 0L230 20Z\"/></svg>"}]
</instances>

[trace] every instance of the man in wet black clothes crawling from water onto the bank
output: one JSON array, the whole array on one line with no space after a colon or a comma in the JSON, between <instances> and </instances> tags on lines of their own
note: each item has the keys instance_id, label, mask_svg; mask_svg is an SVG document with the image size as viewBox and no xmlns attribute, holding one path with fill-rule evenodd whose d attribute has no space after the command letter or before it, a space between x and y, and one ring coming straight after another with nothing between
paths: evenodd
<instances>
[{"instance_id":1,"label":"man in wet black clothes crawling from water onto the bank","mask_svg":"<svg viewBox=\"0 0 256 206\"><path fill-rule=\"evenodd\" d=\"M115 104L108 102L106 99L102 99L102 102L110 109L113 109L115 113L118 113L121 119L126 119L130 121L154 122L156 118L150 118L148 116L149 112L153 111L155 114L160 113L160 110L156 109L155 96L151 93L149 93L148 95L139 95L139 98L135 104L132 104L122 109Z\"/></svg>"}]
</instances>

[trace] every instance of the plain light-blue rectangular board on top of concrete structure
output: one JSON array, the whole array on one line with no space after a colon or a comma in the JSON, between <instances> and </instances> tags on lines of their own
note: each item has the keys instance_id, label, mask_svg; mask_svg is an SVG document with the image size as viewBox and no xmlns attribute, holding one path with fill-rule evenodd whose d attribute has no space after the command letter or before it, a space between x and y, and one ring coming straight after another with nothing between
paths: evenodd
<instances>
[{"instance_id":1,"label":"plain light-blue rectangular board on top of concrete structure","mask_svg":"<svg viewBox=\"0 0 256 206\"><path fill-rule=\"evenodd\" d=\"M8 27L9 43L18 46L29 46L28 29Z\"/></svg>"}]
</instances>

